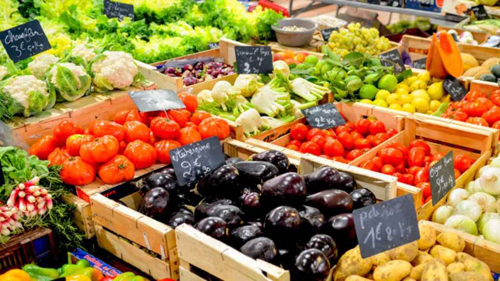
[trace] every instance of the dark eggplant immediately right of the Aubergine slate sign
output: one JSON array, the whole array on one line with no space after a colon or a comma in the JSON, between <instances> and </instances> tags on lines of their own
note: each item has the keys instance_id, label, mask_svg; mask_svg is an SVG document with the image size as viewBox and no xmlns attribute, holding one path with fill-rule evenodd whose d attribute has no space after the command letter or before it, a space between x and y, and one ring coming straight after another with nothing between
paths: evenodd
<instances>
[{"instance_id":1,"label":"dark eggplant immediately right of the Aubergine slate sign","mask_svg":"<svg viewBox=\"0 0 500 281\"><path fill-rule=\"evenodd\" d=\"M231 165L222 165L210 175L200 179L196 188L198 193L205 197L237 196L239 191L238 170Z\"/></svg>"}]
</instances>

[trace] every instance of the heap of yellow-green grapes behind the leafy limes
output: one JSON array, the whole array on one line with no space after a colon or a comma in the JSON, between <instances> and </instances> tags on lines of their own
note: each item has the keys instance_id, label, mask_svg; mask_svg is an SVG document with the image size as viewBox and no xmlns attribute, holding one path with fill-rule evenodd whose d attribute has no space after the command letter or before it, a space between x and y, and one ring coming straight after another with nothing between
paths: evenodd
<instances>
[{"instance_id":1,"label":"heap of yellow-green grapes behind the leafy limes","mask_svg":"<svg viewBox=\"0 0 500 281\"><path fill-rule=\"evenodd\" d=\"M390 48L389 39L378 36L375 28L361 27L359 22L347 24L347 28L340 28L331 32L328 46L340 56L351 51L375 55Z\"/></svg>"}]
</instances>

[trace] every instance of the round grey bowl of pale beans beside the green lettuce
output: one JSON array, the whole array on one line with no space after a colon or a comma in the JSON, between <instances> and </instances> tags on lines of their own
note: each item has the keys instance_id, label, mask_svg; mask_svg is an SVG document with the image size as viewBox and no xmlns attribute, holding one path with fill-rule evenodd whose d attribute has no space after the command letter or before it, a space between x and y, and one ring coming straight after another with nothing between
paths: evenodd
<instances>
[{"instance_id":1,"label":"round grey bowl of pale beans beside the green lettuce","mask_svg":"<svg viewBox=\"0 0 500 281\"><path fill-rule=\"evenodd\" d=\"M283 30L284 26L297 26L307 28L303 31ZM285 18L281 19L277 26L271 25L272 30L276 32L278 42L285 46L299 47L308 44L312 40L317 23L305 18Z\"/></svg>"}]
</instances>

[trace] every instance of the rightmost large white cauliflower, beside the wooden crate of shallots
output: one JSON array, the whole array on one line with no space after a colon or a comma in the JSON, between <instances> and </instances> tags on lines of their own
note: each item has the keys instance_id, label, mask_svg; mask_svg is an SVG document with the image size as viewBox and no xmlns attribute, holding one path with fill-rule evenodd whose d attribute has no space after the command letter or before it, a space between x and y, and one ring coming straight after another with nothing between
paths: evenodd
<instances>
[{"instance_id":1,"label":"rightmost large white cauliflower, beside the wooden crate of shallots","mask_svg":"<svg viewBox=\"0 0 500 281\"><path fill-rule=\"evenodd\" d=\"M140 75L132 55L123 51L104 51L91 62L91 69L97 91L126 89Z\"/></svg>"}]
</instances>

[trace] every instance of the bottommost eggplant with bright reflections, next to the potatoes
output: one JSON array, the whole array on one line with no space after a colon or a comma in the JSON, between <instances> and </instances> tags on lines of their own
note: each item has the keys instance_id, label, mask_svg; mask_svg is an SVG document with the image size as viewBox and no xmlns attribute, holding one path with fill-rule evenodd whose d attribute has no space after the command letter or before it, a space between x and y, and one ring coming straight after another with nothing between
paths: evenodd
<instances>
[{"instance_id":1,"label":"bottommost eggplant with bright reflections, next to the potatoes","mask_svg":"<svg viewBox=\"0 0 500 281\"><path fill-rule=\"evenodd\" d=\"M292 281L324 281L330 272L328 258L318 249L306 249L295 258Z\"/></svg>"}]
</instances>

